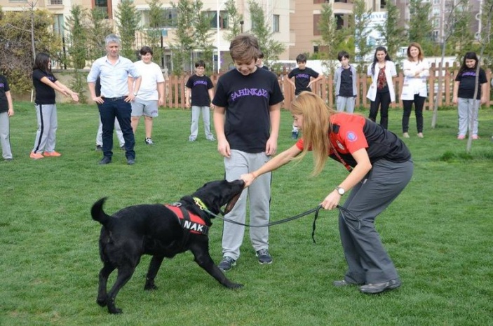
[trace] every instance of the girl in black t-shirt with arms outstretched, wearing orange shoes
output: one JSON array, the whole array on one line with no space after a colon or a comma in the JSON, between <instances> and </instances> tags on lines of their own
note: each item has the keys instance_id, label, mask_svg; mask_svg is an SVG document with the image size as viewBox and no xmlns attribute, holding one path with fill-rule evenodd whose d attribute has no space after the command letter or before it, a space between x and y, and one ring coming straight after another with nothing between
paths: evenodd
<instances>
[{"instance_id":1,"label":"girl in black t-shirt with arms outstretched, wearing orange shoes","mask_svg":"<svg viewBox=\"0 0 493 326\"><path fill-rule=\"evenodd\" d=\"M79 94L74 93L70 88L63 85L51 73L50 56L46 53L38 53L34 60L32 72L32 83L36 90L34 105L38 118L38 130L34 149L30 158L38 160L47 156L61 156L55 151L57 123L57 106L55 104L55 90L65 96L72 97L72 100L79 102ZM43 155L44 151L44 155Z\"/></svg>"}]
</instances>

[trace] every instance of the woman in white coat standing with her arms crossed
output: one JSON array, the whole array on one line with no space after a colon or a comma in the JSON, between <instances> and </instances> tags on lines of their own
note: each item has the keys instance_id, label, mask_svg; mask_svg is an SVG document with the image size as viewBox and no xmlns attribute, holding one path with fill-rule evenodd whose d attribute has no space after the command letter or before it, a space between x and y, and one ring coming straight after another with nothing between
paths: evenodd
<instances>
[{"instance_id":1,"label":"woman in white coat standing with her arms crossed","mask_svg":"<svg viewBox=\"0 0 493 326\"><path fill-rule=\"evenodd\" d=\"M418 137L423 138L423 107L428 96L426 79L430 76L430 68L419 43L411 43L407 47L407 60L403 63L403 73L403 93L400 96L404 107L403 137L409 138L409 117L414 103Z\"/></svg>"}]
</instances>

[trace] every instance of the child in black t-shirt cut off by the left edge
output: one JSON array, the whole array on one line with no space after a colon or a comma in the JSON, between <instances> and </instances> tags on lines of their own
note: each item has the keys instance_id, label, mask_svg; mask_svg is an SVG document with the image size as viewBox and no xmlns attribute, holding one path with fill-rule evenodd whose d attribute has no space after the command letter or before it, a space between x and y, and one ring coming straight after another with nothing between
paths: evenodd
<instances>
[{"instance_id":1,"label":"child in black t-shirt cut off by the left edge","mask_svg":"<svg viewBox=\"0 0 493 326\"><path fill-rule=\"evenodd\" d=\"M5 161L12 161L10 117L14 115L11 88L5 76L0 75L0 145Z\"/></svg>"}]
</instances>

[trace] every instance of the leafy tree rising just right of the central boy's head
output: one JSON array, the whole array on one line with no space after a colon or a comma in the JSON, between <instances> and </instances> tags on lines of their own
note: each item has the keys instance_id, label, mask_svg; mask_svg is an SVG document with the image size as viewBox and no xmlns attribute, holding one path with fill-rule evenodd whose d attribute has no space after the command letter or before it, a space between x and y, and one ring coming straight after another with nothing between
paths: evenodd
<instances>
[{"instance_id":1,"label":"leafy tree rising just right of the central boy's head","mask_svg":"<svg viewBox=\"0 0 493 326\"><path fill-rule=\"evenodd\" d=\"M284 52L285 46L283 43L273 39L272 28L269 22L266 22L264 9L252 0L248 1L248 10L252 20L252 29L250 32L257 37L259 48L264 53L265 62L269 60L278 60L279 55Z\"/></svg>"}]
</instances>

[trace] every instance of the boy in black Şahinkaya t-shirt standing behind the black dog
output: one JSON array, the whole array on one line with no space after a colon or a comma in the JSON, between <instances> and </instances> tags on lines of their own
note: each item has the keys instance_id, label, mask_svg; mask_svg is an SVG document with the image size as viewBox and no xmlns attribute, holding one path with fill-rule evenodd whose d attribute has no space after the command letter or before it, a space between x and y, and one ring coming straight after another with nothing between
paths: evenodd
<instances>
[{"instance_id":1,"label":"boy in black \u015eahinkaya t-shirt standing behind the black dog","mask_svg":"<svg viewBox=\"0 0 493 326\"><path fill-rule=\"evenodd\" d=\"M259 55L257 39L252 35L236 36L229 46L236 69L222 75L212 104L217 150L224 156L226 179L257 170L276 154L283 94L277 76L255 63ZM259 177L227 214L228 219L245 223L247 195L250 197L250 223L269 223L271 197L270 173ZM222 261L219 268L229 271L240 257L245 227L224 223ZM269 228L251 228L250 240L260 264L271 264Z\"/></svg>"}]
</instances>

